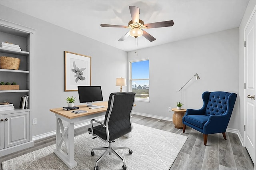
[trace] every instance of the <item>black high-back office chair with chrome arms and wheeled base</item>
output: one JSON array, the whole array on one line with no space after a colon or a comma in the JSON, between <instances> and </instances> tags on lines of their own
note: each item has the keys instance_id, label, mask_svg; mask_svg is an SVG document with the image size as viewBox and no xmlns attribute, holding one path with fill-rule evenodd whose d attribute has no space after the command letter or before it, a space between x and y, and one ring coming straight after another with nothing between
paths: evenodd
<instances>
[{"instance_id":1,"label":"black high-back office chair with chrome arms and wheeled base","mask_svg":"<svg viewBox=\"0 0 256 170\"><path fill-rule=\"evenodd\" d=\"M121 136L132 131L131 113L134 106L135 93L133 92L118 92L111 93L108 99L108 109L105 115L104 124L95 119L91 120L91 128L88 128L88 132L92 136L96 136L108 142L108 147L92 148L91 155L94 156L93 150L106 150L95 163L94 170L98 170L97 163L109 153L114 153L118 158L123 161L122 168L126 170L125 160L115 152L116 149L129 149L129 154L132 154L132 150L128 147L112 147L112 142ZM99 123L98 126L93 126L93 122ZM94 138L96 138L94 137Z\"/></svg>"}]
</instances>

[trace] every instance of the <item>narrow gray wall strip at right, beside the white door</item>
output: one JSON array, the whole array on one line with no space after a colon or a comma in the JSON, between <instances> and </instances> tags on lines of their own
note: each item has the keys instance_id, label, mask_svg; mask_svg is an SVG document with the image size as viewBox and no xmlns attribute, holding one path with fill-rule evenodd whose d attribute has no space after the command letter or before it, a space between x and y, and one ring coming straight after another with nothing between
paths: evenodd
<instances>
[{"instance_id":1,"label":"narrow gray wall strip at right, beside the white door","mask_svg":"<svg viewBox=\"0 0 256 170\"><path fill-rule=\"evenodd\" d=\"M238 130L241 137L244 138L244 28L252 14L252 10L256 5L255 0L250 0L246 11L244 12L244 17L239 26L239 124Z\"/></svg>"}]
</instances>

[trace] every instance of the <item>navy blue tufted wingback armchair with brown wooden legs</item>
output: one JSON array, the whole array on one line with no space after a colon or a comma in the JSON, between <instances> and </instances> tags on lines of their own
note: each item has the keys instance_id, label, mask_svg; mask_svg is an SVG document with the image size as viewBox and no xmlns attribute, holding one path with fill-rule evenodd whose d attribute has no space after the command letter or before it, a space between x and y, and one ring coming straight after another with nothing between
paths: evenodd
<instances>
[{"instance_id":1,"label":"navy blue tufted wingback armchair with brown wooden legs","mask_svg":"<svg viewBox=\"0 0 256 170\"><path fill-rule=\"evenodd\" d=\"M208 134L222 133L226 139L226 128L230 120L235 102L236 93L223 91L209 92L202 94L204 105L199 110L187 109L182 118L183 133L186 126L194 128L203 133L204 145L207 143Z\"/></svg>"}]
</instances>

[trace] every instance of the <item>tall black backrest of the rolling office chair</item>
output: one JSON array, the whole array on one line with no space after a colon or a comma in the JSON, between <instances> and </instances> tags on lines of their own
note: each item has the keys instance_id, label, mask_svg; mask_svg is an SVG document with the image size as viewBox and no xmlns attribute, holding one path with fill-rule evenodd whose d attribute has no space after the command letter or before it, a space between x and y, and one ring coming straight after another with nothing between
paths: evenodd
<instances>
[{"instance_id":1,"label":"tall black backrest of the rolling office chair","mask_svg":"<svg viewBox=\"0 0 256 170\"><path fill-rule=\"evenodd\" d=\"M111 93L104 124L108 126L109 141L115 140L132 131L131 113L134 106L135 93Z\"/></svg>"}]
</instances>

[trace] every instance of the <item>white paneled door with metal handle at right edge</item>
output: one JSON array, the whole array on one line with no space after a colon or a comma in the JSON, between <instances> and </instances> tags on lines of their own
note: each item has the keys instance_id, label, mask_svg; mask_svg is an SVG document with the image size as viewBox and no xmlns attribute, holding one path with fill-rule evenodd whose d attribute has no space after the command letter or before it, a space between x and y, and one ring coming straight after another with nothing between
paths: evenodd
<instances>
[{"instance_id":1,"label":"white paneled door with metal handle at right edge","mask_svg":"<svg viewBox=\"0 0 256 170\"><path fill-rule=\"evenodd\" d=\"M244 79L245 79L245 147L248 150L254 165L256 164L256 34L255 34L255 11L247 24L244 32L245 56L244 56Z\"/></svg>"}]
</instances>

